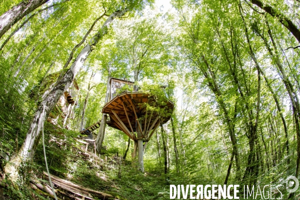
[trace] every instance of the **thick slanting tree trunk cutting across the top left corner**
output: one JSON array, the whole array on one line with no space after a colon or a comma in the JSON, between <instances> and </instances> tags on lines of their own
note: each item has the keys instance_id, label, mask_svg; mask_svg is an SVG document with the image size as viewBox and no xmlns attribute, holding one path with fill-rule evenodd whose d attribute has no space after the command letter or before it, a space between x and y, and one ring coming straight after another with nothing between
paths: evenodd
<instances>
[{"instance_id":1,"label":"thick slanting tree trunk cutting across the top left corner","mask_svg":"<svg viewBox=\"0 0 300 200\"><path fill-rule=\"evenodd\" d=\"M26 15L33 12L49 0L27 0L14 6L11 10L0 16L0 39L11 29L18 21L23 19Z\"/></svg>"}]
</instances>

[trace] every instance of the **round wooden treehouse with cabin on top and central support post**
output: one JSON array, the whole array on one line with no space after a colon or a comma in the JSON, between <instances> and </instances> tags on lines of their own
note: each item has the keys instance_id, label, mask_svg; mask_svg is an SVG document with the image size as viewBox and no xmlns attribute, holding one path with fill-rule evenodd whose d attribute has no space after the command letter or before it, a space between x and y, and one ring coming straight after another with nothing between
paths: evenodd
<instances>
[{"instance_id":1,"label":"round wooden treehouse with cabin on top and central support post","mask_svg":"<svg viewBox=\"0 0 300 200\"><path fill-rule=\"evenodd\" d=\"M165 95L159 102L156 94L134 90L133 82L129 81L127 82L132 91L120 91L122 88L120 86L117 87L118 94L114 89L115 81L116 79L111 80L111 99L103 107L102 113L109 115L110 120L107 122L109 126L121 130L135 142L132 156L136 156L138 149L139 167L144 172L143 153L146 145L158 126L171 118L174 104Z\"/></svg>"}]
</instances>

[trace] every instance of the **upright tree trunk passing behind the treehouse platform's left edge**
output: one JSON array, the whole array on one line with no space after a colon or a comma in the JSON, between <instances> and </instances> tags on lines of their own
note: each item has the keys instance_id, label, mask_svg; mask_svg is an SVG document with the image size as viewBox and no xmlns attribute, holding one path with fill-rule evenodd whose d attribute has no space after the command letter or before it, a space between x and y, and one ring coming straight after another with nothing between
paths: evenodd
<instances>
[{"instance_id":1,"label":"upright tree trunk passing behind the treehouse platform's left edge","mask_svg":"<svg viewBox=\"0 0 300 200\"><path fill-rule=\"evenodd\" d=\"M108 77L107 77L106 94L105 94L104 104L107 104L108 100L109 100L109 95L110 95L110 90L111 90L110 89L110 80L111 80L111 71L110 71L110 68L108 68ZM98 135L96 138L96 148L99 153L101 152L102 143L104 140L106 121L107 121L107 115L105 113L103 113L99 132L98 132Z\"/></svg>"}]
</instances>

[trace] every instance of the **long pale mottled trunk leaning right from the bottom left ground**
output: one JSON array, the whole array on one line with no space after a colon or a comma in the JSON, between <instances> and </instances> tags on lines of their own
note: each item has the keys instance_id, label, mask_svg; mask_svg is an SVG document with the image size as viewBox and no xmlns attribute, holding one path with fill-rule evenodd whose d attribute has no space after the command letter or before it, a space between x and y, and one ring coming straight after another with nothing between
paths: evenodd
<instances>
[{"instance_id":1,"label":"long pale mottled trunk leaning right from the bottom left ground","mask_svg":"<svg viewBox=\"0 0 300 200\"><path fill-rule=\"evenodd\" d=\"M41 105L38 107L36 113L34 114L34 118L31 122L26 139L21 149L19 150L18 154L12 157L10 162L6 165L5 172L6 174L10 173L10 178L12 181L16 182L19 179L19 169L21 163L25 163L33 158L41 137L42 124L49 116L50 111L57 104L59 98L69 88L75 76L85 63L90 53L94 50L97 43L103 38L103 35L107 33L110 23L116 17L123 16L127 11L128 9L125 9L123 11L117 11L111 14L111 16L105 21L104 25L99 30L99 32L91 39L91 41L83 48L83 50L81 50L81 52L78 54L77 58L71 65L70 69L66 71L62 79L58 80L52 91L45 96L45 98L41 102ZM44 115L42 115L43 110L45 110Z\"/></svg>"}]
</instances>

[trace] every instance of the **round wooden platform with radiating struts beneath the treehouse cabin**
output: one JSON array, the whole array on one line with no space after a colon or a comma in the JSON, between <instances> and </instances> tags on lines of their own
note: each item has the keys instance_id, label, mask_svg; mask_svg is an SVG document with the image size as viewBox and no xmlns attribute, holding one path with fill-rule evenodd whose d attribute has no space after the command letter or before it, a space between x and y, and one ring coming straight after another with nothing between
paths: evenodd
<instances>
[{"instance_id":1,"label":"round wooden platform with radiating struts beneath the treehouse cabin","mask_svg":"<svg viewBox=\"0 0 300 200\"><path fill-rule=\"evenodd\" d=\"M160 121L166 123L174 110L174 104L168 100L165 106L160 106L167 113L166 116L161 117L155 111L148 111L145 103L153 104L153 102L155 100L148 93L125 92L108 102L102 112L109 114L110 121L107 122L109 126L123 131L132 140L140 139L134 133L139 129L142 138L149 141L160 125Z\"/></svg>"}]
</instances>

